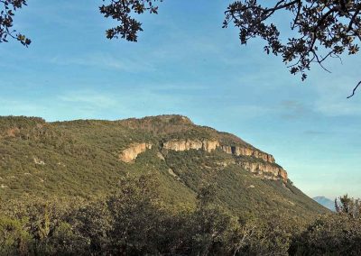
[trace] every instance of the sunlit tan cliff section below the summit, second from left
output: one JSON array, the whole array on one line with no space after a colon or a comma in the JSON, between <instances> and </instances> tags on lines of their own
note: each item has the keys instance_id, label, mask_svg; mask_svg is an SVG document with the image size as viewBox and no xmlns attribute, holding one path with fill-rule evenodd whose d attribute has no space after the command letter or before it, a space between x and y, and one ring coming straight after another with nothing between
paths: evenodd
<instances>
[{"instance_id":1,"label":"sunlit tan cliff section below the summit, second from left","mask_svg":"<svg viewBox=\"0 0 361 256\"><path fill-rule=\"evenodd\" d=\"M169 151L203 150L214 151L219 147L219 142L214 140L171 140L164 142L162 148Z\"/></svg>"}]
</instances>

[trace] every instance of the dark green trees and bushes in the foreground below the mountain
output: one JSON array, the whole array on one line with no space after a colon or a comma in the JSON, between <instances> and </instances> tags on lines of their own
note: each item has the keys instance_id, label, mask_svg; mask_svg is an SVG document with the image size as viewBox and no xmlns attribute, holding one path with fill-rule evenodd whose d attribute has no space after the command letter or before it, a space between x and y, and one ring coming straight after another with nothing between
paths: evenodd
<instances>
[{"instance_id":1,"label":"dark green trees and bushes in the foreground below the mountain","mask_svg":"<svg viewBox=\"0 0 361 256\"><path fill-rule=\"evenodd\" d=\"M340 212L305 225L287 215L235 215L212 185L177 210L159 174L121 178L101 200L2 204L1 255L359 255L361 219ZM352 200L352 202L354 202Z\"/></svg>"}]
</instances>

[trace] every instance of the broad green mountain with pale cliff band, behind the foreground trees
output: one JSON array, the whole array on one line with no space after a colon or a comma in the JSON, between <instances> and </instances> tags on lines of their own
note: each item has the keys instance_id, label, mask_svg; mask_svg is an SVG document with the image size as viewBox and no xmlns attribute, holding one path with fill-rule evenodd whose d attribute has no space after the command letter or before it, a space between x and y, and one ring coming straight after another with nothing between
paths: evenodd
<instances>
[{"instance_id":1,"label":"broad green mountain with pale cliff band, behind the foreground trees","mask_svg":"<svg viewBox=\"0 0 361 256\"><path fill-rule=\"evenodd\" d=\"M181 115L47 123L0 118L0 198L105 197L125 175L157 173L170 206L194 204L215 187L233 213L300 219L328 210L292 185L269 153Z\"/></svg>"}]
</instances>

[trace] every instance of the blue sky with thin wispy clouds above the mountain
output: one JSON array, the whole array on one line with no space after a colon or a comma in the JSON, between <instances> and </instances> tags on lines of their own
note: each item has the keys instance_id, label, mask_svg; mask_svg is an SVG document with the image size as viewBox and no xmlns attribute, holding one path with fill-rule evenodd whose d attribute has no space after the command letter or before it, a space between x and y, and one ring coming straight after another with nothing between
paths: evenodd
<instances>
[{"instance_id":1,"label":"blue sky with thin wispy clouds above the mountain","mask_svg":"<svg viewBox=\"0 0 361 256\"><path fill-rule=\"evenodd\" d=\"M32 0L0 44L0 115L118 120L183 114L273 154L310 197L361 197L360 57L313 66L301 82L264 41L222 29L224 0L164 1L139 41L106 39L102 1ZM276 18L288 25L284 16ZM287 36L287 35L286 35Z\"/></svg>"}]
</instances>

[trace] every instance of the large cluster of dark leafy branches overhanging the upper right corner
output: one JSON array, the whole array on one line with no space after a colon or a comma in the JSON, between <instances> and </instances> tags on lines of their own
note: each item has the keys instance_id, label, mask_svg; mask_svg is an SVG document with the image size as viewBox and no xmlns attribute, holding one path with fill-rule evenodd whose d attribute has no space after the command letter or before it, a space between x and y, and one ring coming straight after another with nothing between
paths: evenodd
<instances>
[{"instance_id":1,"label":"large cluster of dark leafy branches overhanging the upper right corner","mask_svg":"<svg viewBox=\"0 0 361 256\"><path fill-rule=\"evenodd\" d=\"M339 58L345 51L356 54L356 41L361 35L361 3L354 0L310 1L280 0L273 4L258 4L256 0L236 1L226 11L224 26L234 23L239 29L242 44L260 37L267 44L264 50L269 54L282 55L292 74L306 71L311 63L323 67L329 57ZM282 40L279 27L270 23L273 15L292 17L291 29L296 35Z\"/></svg>"}]
</instances>

